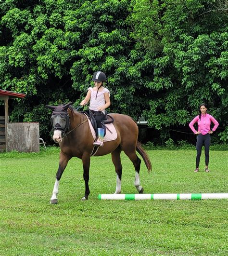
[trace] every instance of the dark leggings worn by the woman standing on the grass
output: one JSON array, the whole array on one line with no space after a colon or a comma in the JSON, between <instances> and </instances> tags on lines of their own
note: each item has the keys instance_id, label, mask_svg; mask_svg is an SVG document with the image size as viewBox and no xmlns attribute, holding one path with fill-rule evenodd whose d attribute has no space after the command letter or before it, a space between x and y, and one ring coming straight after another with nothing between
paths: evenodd
<instances>
[{"instance_id":1,"label":"dark leggings worn by the woman standing on the grass","mask_svg":"<svg viewBox=\"0 0 228 256\"><path fill-rule=\"evenodd\" d=\"M209 148L210 148L210 143L211 143L211 135L210 134L199 134L197 136L197 141L196 141L196 150L197 150L197 155L196 155L196 168L199 168L200 164L200 156L202 152L202 147L204 144L204 151L205 151L205 165L207 166L209 163Z\"/></svg>"}]
</instances>

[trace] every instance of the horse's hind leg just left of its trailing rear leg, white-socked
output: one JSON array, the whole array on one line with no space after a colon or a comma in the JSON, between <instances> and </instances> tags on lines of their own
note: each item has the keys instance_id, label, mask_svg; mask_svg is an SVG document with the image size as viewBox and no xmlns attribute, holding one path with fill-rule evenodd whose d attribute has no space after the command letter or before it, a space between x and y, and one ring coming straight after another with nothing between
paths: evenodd
<instances>
[{"instance_id":1,"label":"horse's hind leg just left of its trailing rear leg, white-socked","mask_svg":"<svg viewBox=\"0 0 228 256\"><path fill-rule=\"evenodd\" d=\"M112 152L112 161L115 166L116 173L116 188L114 194L119 194L121 192L121 177L122 177L122 164L120 160L121 148L118 147Z\"/></svg>"}]
</instances>

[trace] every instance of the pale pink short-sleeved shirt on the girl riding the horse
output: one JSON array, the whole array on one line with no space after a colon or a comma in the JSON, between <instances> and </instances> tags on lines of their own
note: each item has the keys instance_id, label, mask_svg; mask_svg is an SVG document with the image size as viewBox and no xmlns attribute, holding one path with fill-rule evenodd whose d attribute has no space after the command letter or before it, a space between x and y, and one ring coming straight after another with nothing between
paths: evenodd
<instances>
[{"instance_id":1,"label":"pale pink short-sleeved shirt on the girl riding the horse","mask_svg":"<svg viewBox=\"0 0 228 256\"><path fill-rule=\"evenodd\" d=\"M98 111L98 107L101 107L105 104L104 93L108 93L110 96L110 92L107 88L103 88L103 90L99 89L98 94L97 91L94 91L92 87L89 87L88 91L91 92L90 102L89 102L89 109ZM97 99L96 99L97 95ZM104 114L104 110L102 110Z\"/></svg>"}]
</instances>

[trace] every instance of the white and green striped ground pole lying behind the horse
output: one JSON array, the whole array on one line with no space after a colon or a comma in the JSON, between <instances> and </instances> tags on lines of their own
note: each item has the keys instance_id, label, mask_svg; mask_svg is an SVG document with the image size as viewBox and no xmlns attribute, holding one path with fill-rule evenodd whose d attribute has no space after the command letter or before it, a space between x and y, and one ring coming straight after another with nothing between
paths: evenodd
<instances>
[{"instance_id":1,"label":"white and green striped ground pole lying behind the horse","mask_svg":"<svg viewBox=\"0 0 228 256\"><path fill-rule=\"evenodd\" d=\"M100 194L99 200L202 200L228 199L228 193L202 194Z\"/></svg>"}]
</instances>

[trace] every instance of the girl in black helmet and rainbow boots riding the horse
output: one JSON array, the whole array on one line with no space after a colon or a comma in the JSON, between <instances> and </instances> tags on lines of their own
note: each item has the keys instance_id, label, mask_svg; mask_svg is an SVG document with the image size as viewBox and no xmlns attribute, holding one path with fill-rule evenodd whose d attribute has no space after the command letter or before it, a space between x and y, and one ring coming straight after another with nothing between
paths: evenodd
<instances>
[{"instance_id":1,"label":"girl in black helmet and rainbow boots riding the horse","mask_svg":"<svg viewBox=\"0 0 228 256\"><path fill-rule=\"evenodd\" d=\"M103 83L106 81L106 75L103 72L95 72L92 81L94 81L94 87L89 87L88 93L80 105L85 106L90 100L90 111L93 114L98 111L94 115L98 126L98 137L93 145L103 147L104 129L102 128L101 121L104 118L104 109L108 108L111 104L110 92L107 88L103 87Z\"/></svg>"}]
</instances>

